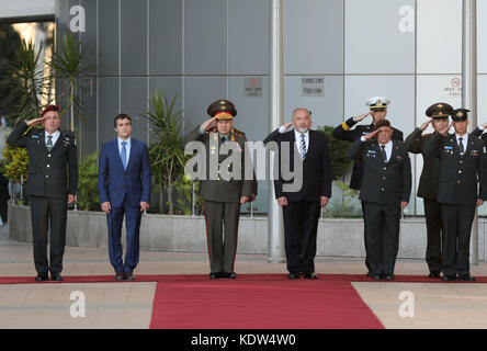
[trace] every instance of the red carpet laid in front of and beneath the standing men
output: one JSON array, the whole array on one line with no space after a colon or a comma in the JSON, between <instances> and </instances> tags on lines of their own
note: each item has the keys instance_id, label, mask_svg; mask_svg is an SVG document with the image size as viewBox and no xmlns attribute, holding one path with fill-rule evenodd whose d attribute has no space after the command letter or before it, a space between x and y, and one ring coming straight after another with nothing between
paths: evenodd
<instances>
[{"instance_id":1,"label":"red carpet laid in front of and beneath the standing men","mask_svg":"<svg viewBox=\"0 0 487 351\"><path fill-rule=\"evenodd\" d=\"M64 278L61 284L118 283L114 275ZM157 282L152 329L384 328L351 285L373 282L363 274L320 274L316 281L290 281L285 274L239 274L237 280L213 281L206 274L137 275L137 282ZM397 275L394 282L443 283L419 275ZM487 283L487 276L477 276L477 283ZM0 284L59 283L2 276Z\"/></svg>"}]
</instances>

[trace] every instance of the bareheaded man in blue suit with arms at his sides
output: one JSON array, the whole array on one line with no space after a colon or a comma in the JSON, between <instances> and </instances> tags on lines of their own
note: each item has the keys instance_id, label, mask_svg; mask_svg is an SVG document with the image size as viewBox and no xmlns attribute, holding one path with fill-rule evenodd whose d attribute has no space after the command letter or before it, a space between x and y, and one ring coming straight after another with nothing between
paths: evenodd
<instances>
[{"instance_id":1,"label":"bareheaded man in blue suit with arms at his sides","mask_svg":"<svg viewBox=\"0 0 487 351\"><path fill-rule=\"evenodd\" d=\"M115 281L135 280L139 257L140 216L149 207L150 163L147 145L131 137L132 118L120 114L114 121L117 138L103 144L99 158L98 189L109 226L110 262ZM122 224L125 215L127 250L122 260Z\"/></svg>"}]
</instances>

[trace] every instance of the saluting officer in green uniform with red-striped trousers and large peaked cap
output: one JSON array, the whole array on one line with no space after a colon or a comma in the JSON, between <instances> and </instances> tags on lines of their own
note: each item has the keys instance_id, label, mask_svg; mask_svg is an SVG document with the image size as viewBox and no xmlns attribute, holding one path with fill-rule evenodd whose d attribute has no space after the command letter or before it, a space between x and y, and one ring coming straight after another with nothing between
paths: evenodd
<instances>
[{"instance_id":1,"label":"saluting officer in green uniform with red-striped trousers and large peaked cap","mask_svg":"<svg viewBox=\"0 0 487 351\"><path fill-rule=\"evenodd\" d=\"M245 179L247 138L244 132L233 127L237 115L235 105L228 100L217 100L208 106L207 113L211 118L192 131L183 144L197 140L205 146L206 179L200 180L200 195L205 208L209 279L235 279L240 205L256 199L257 181L253 171L251 179ZM229 147L231 151L220 152L222 147ZM234 152L239 165L226 162ZM212 160L217 160L214 162L216 174L212 172ZM240 168L237 177L234 177L234 168L236 172Z\"/></svg>"}]
</instances>

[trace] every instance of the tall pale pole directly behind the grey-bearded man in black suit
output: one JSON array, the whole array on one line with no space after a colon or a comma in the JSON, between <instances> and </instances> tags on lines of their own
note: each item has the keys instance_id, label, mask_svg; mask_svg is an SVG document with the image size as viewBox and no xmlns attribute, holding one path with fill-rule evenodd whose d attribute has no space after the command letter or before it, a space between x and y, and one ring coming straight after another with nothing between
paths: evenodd
<instances>
[{"instance_id":1,"label":"tall pale pole directly behind the grey-bearded man in black suit","mask_svg":"<svg viewBox=\"0 0 487 351\"><path fill-rule=\"evenodd\" d=\"M283 124L283 0L271 1L271 77L270 77L270 129L274 131ZM271 132L270 131L270 132ZM270 152L270 174L272 174L273 152ZM272 177L271 177L272 179ZM274 196L274 184L269 183L269 246L268 261L282 263L285 261L284 231L282 210Z\"/></svg>"}]
</instances>

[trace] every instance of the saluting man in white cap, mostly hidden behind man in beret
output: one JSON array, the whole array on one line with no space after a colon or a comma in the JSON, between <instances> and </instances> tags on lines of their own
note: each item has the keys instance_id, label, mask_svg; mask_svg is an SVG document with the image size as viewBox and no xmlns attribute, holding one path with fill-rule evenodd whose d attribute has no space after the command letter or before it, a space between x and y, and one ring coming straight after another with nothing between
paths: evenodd
<instances>
[{"instance_id":1,"label":"saluting man in white cap, mostly hidden behind man in beret","mask_svg":"<svg viewBox=\"0 0 487 351\"><path fill-rule=\"evenodd\" d=\"M361 114L356 117L350 117L338 127L333 129L333 137L340 140L347 141L355 141L360 139L362 136L367 135L374 131L374 127L377 122L384 121L387 115L387 105L390 103L390 100L384 97L374 97L369 99L365 102L365 105L369 106L369 112ZM358 125L354 129L351 129L356 123L365 120L369 115L372 116L372 123L369 125ZM403 141L403 132L393 127L393 140ZM363 177L363 160L362 158L358 158L353 161L352 169L352 178L350 179L350 188L360 190L360 184L362 183ZM362 212L363 212L363 203L362 203ZM365 242L365 238L364 238ZM366 251L366 250L365 250ZM371 269L369 265L369 259L365 257L365 265L369 270L367 276L371 275Z\"/></svg>"}]
</instances>

